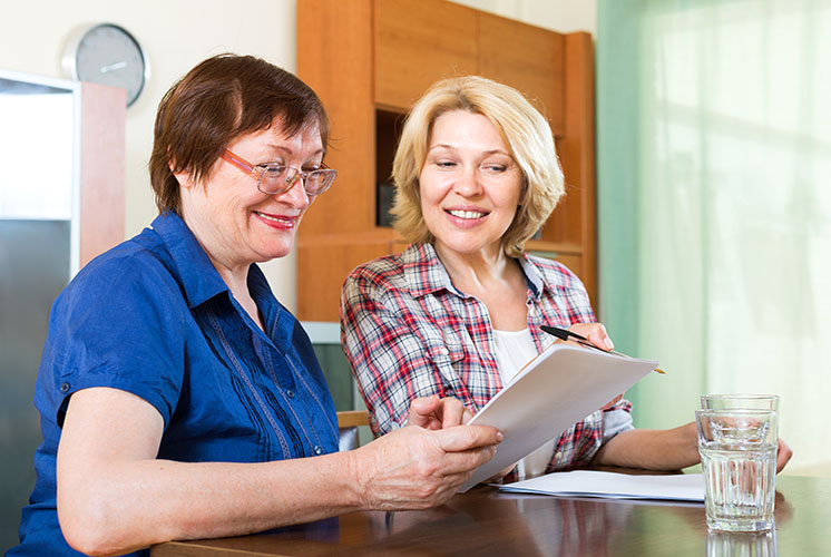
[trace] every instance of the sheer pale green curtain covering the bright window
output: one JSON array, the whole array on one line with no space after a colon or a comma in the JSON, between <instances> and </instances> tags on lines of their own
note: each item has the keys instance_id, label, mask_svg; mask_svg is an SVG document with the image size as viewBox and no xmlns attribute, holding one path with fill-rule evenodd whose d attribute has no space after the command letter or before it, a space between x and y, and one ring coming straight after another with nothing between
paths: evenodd
<instances>
[{"instance_id":1,"label":"sheer pale green curtain covering the bright window","mask_svg":"<svg viewBox=\"0 0 831 557\"><path fill-rule=\"evenodd\" d=\"M831 475L829 29L831 0L598 0L598 312L668 372L635 422L778 393L790 470Z\"/></svg>"}]
</instances>

